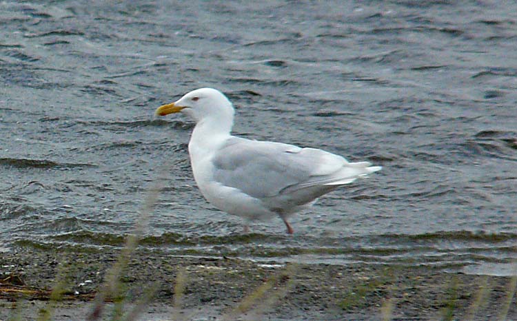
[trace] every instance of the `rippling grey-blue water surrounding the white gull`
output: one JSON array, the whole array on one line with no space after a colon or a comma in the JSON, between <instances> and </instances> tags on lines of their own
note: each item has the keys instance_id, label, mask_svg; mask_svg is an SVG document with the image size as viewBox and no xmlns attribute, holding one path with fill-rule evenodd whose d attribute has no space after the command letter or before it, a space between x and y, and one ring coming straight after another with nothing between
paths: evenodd
<instances>
[{"instance_id":1,"label":"rippling grey-blue water surrounding the white gull","mask_svg":"<svg viewBox=\"0 0 517 321\"><path fill-rule=\"evenodd\" d=\"M147 190L143 247L177 255L434 265L512 273L517 258L517 4L3 1L2 247L116 249ZM225 92L241 136L383 171L308 212L214 209L193 123L156 107Z\"/></svg>"}]
</instances>

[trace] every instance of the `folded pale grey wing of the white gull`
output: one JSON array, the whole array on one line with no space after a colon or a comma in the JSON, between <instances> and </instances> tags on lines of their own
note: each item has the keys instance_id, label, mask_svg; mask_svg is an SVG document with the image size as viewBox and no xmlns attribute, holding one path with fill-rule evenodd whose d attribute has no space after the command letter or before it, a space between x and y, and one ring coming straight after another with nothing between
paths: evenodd
<instances>
[{"instance_id":1,"label":"folded pale grey wing of the white gull","mask_svg":"<svg viewBox=\"0 0 517 321\"><path fill-rule=\"evenodd\" d=\"M321 149L237 137L230 138L212 161L214 180L254 198L316 185L342 185L369 173L369 163L348 163Z\"/></svg>"}]
</instances>

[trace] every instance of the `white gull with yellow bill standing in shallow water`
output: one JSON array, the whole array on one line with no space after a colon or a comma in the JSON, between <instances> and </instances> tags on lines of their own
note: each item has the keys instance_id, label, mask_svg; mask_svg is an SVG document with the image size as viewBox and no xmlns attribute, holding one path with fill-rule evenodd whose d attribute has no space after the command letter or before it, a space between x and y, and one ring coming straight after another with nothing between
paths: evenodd
<instances>
[{"instance_id":1,"label":"white gull with yellow bill standing in shallow water","mask_svg":"<svg viewBox=\"0 0 517 321\"><path fill-rule=\"evenodd\" d=\"M221 211L246 220L279 217L287 227L292 214L334 189L382 167L349 163L316 148L254 141L230 134L234 107L213 88L201 88L162 105L156 115L181 112L196 121L188 152L201 194Z\"/></svg>"}]
</instances>

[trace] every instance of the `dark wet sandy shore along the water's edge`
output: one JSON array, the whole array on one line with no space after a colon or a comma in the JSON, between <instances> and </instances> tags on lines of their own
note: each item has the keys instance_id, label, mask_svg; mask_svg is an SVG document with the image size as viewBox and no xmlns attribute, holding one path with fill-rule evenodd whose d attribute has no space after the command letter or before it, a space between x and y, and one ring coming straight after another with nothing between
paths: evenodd
<instances>
[{"instance_id":1,"label":"dark wet sandy shore along the water's edge","mask_svg":"<svg viewBox=\"0 0 517 321\"><path fill-rule=\"evenodd\" d=\"M0 320L84 319L119 252L17 247L0 253ZM184 276L183 290L176 287ZM61 284L59 302L49 300ZM138 249L121 275L130 311L143 293L154 297L141 320L494 320L505 311L512 279L445 273L432 267L303 265L237 258L170 256ZM176 289L175 289L176 287ZM174 293L183 293L174 301ZM176 302L176 303L174 303ZM174 309L174 304L181 310ZM509 320L517 319L511 295Z\"/></svg>"}]
</instances>

